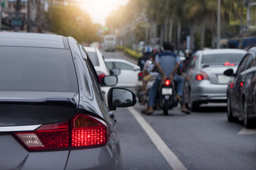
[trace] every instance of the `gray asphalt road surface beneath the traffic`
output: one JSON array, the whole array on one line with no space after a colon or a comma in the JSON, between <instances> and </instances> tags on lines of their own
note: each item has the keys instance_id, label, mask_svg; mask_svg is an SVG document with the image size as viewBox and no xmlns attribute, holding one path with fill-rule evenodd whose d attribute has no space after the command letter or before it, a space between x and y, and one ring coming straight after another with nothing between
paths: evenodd
<instances>
[{"instance_id":1,"label":"gray asphalt road surface beneath the traffic","mask_svg":"<svg viewBox=\"0 0 256 170\"><path fill-rule=\"evenodd\" d=\"M116 112L124 169L256 169L256 129L228 123L225 104L203 105L191 115L179 106L169 115L143 115L144 107L137 103Z\"/></svg>"}]
</instances>

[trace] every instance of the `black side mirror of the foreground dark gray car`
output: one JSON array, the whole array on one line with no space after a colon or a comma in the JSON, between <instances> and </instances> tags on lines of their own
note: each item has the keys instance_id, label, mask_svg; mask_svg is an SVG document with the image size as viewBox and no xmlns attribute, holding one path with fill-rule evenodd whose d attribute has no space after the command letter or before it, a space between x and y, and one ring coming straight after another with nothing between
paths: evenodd
<instances>
[{"instance_id":1,"label":"black side mirror of the foreground dark gray car","mask_svg":"<svg viewBox=\"0 0 256 170\"><path fill-rule=\"evenodd\" d=\"M112 87L107 93L107 104L110 108L134 106L136 102L136 95L128 89Z\"/></svg>"}]
</instances>

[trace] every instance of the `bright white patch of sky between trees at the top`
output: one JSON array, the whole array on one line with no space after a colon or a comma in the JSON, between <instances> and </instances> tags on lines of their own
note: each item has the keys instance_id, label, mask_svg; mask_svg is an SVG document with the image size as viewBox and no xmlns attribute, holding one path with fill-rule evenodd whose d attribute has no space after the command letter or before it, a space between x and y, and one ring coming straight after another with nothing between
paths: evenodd
<instances>
[{"instance_id":1,"label":"bright white patch of sky between trees at the top","mask_svg":"<svg viewBox=\"0 0 256 170\"><path fill-rule=\"evenodd\" d=\"M105 19L111 11L116 10L119 6L125 6L129 0L77 0L81 6L90 14L94 23L100 23L105 26Z\"/></svg>"}]
</instances>

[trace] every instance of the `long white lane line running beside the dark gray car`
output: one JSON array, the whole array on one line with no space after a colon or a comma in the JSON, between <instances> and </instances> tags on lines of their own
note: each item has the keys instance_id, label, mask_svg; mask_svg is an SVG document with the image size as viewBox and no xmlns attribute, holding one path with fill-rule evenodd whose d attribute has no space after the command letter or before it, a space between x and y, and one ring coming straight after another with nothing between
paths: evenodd
<instances>
[{"instance_id":1,"label":"long white lane line running beside the dark gray car","mask_svg":"<svg viewBox=\"0 0 256 170\"><path fill-rule=\"evenodd\" d=\"M134 107L129 107L128 110L132 113L139 125L142 126L146 134L149 135L149 138L154 145L156 145L156 148L159 149L159 152L161 152L171 168L174 170L187 170L181 161L176 157L174 152L171 152L171 149L169 149L164 141L161 140L161 137L159 137L156 131L149 125L149 123L146 122L143 116L140 115L140 113L138 113Z\"/></svg>"}]
</instances>

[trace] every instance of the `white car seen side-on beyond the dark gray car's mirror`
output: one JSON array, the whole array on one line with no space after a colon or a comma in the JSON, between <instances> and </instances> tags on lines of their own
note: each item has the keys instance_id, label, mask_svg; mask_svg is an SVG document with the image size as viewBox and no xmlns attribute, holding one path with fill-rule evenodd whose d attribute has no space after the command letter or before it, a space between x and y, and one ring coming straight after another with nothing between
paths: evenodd
<instances>
[{"instance_id":1,"label":"white car seen side-on beyond the dark gray car's mirror","mask_svg":"<svg viewBox=\"0 0 256 170\"><path fill-rule=\"evenodd\" d=\"M137 64L122 59L105 59L109 69L119 68L121 70L116 86L135 87L138 84L140 67Z\"/></svg>"}]
</instances>

